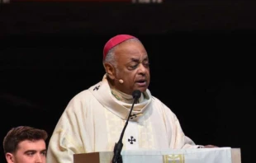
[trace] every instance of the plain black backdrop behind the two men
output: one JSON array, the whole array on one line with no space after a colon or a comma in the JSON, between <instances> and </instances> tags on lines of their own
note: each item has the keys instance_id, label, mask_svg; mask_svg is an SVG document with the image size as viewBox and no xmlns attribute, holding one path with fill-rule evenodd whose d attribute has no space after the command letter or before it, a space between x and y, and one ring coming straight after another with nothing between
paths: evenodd
<instances>
[{"instance_id":1,"label":"plain black backdrop behind the two men","mask_svg":"<svg viewBox=\"0 0 256 163\"><path fill-rule=\"evenodd\" d=\"M18 125L51 135L73 95L102 80L104 44L126 33L145 44L149 90L177 114L184 133L197 144L239 147L242 162L254 162L255 7L220 0L0 3L1 140ZM4 162L2 144L0 152Z\"/></svg>"}]
</instances>

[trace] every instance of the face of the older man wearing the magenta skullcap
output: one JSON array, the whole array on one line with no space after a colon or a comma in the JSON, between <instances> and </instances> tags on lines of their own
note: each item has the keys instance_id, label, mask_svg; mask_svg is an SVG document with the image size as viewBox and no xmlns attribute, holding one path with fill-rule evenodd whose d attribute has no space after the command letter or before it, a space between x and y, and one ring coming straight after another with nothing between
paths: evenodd
<instances>
[{"instance_id":1,"label":"face of the older man wearing the magenta skullcap","mask_svg":"<svg viewBox=\"0 0 256 163\"><path fill-rule=\"evenodd\" d=\"M143 44L126 41L116 47L116 89L131 95L133 91L146 91L149 86L149 58ZM124 82L118 82L122 79Z\"/></svg>"}]
</instances>

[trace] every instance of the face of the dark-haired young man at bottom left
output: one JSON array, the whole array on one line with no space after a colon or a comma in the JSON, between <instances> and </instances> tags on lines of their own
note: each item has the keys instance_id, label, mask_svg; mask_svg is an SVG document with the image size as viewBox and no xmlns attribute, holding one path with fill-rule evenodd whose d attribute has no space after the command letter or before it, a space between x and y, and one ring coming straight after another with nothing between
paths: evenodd
<instances>
[{"instance_id":1,"label":"face of the dark-haired young man at bottom left","mask_svg":"<svg viewBox=\"0 0 256 163\"><path fill-rule=\"evenodd\" d=\"M25 140L18 144L17 151L11 155L8 163L45 163L46 147L44 140ZM7 156L8 157L8 156Z\"/></svg>"}]
</instances>

